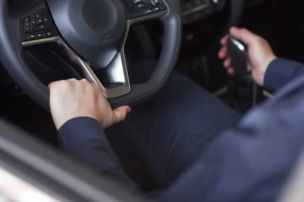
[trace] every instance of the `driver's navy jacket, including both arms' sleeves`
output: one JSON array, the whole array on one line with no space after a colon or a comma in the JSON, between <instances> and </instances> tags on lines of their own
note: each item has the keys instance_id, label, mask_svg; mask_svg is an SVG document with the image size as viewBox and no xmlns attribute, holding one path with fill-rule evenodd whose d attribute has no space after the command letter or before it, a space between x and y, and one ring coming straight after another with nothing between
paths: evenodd
<instances>
[{"instance_id":1,"label":"driver's navy jacket, including both arms' sleeves","mask_svg":"<svg viewBox=\"0 0 304 202\"><path fill-rule=\"evenodd\" d=\"M277 59L264 79L274 98L226 130L160 201L273 201L304 144L304 65ZM69 120L59 130L66 153L136 187L124 173L99 123Z\"/></svg>"}]
</instances>

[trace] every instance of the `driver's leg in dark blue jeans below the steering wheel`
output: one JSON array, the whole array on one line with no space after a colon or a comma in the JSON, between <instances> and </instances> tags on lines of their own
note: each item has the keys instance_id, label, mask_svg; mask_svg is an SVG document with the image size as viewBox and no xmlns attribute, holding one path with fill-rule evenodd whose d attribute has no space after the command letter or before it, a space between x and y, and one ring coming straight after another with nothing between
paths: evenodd
<instances>
[{"instance_id":1,"label":"driver's leg in dark blue jeans below the steering wheel","mask_svg":"<svg viewBox=\"0 0 304 202\"><path fill-rule=\"evenodd\" d=\"M174 72L157 97L133 108L121 126L165 187L240 119L236 111Z\"/></svg>"}]
</instances>

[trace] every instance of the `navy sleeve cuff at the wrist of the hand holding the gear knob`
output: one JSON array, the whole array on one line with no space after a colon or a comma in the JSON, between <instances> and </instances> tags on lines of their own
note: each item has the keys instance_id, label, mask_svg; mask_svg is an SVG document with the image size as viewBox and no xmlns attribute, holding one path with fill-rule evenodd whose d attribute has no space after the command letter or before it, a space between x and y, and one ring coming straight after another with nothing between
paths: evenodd
<instances>
[{"instance_id":1,"label":"navy sleeve cuff at the wrist of the hand holding the gear knob","mask_svg":"<svg viewBox=\"0 0 304 202\"><path fill-rule=\"evenodd\" d=\"M304 64L285 59L274 60L267 68L264 88L274 93L294 78L304 74Z\"/></svg>"}]
</instances>

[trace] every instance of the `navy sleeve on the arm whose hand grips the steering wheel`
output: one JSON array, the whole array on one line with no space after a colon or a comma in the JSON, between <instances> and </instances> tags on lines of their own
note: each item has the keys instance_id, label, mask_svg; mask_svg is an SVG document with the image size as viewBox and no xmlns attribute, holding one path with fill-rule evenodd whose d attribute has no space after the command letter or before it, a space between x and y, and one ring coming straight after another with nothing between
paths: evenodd
<instances>
[{"instance_id":1,"label":"navy sleeve on the arm whose hand grips the steering wheel","mask_svg":"<svg viewBox=\"0 0 304 202\"><path fill-rule=\"evenodd\" d=\"M136 187L125 174L98 121L89 117L74 118L66 122L58 134L60 146L67 154L106 176Z\"/></svg>"}]
</instances>

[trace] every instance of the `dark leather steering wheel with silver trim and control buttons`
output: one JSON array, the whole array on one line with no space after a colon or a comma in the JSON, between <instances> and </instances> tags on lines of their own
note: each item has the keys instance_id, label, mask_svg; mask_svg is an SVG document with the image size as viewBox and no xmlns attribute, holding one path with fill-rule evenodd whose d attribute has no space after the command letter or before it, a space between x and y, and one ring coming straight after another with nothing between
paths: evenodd
<instances>
[{"instance_id":1,"label":"dark leather steering wheel with silver trim and control buttons","mask_svg":"<svg viewBox=\"0 0 304 202\"><path fill-rule=\"evenodd\" d=\"M111 106L150 98L166 82L176 64L181 41L177 0L32 0L0 2L0 60L16 84L49 110L50 91L29 69L22 52L56 47L56 54L80 78L98 84ZM124 46L135 23L159 19L164 42L158 65L143 84L130 84ZM104 69L103 85L94 73Z\"/></svg>"}]
</instances>

